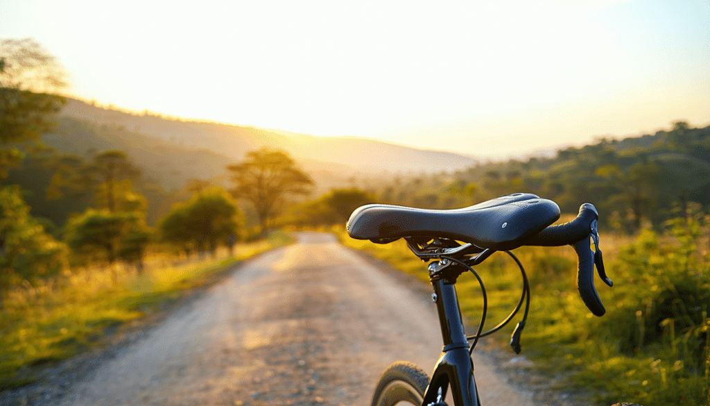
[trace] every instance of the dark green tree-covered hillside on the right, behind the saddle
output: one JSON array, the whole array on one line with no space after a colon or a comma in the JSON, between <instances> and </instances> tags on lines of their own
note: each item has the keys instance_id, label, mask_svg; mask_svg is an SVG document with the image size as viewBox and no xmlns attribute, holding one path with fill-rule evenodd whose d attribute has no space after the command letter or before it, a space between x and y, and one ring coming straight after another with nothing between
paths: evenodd
<instances>
[{"instance_id":1,"label":"dark green tree-covered hillside on the right, behind the saddle","mask_svg":"<svg viewBox=\"0 0 710 406\"><path fill-rule=\"evenodd\" d=\"M601 225L624 233L650 225L660 230L673 217L674 204L710 205L710 127L677 122L670 131L601 139L557 151L554 157L488 162L453 175L395 178L366 190L378 202L422 208L459 208L528 192L554 200L563 213L594 203L606 213Z\"/></svg>"}]
</instances>

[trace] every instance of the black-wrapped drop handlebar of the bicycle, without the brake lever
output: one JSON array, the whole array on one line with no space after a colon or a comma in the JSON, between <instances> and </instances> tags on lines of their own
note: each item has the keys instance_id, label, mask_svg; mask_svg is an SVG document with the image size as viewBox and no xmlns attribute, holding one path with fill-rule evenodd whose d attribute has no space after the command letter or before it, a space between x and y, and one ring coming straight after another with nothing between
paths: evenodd
<instances>
[{"instance_id":1,"label":"black-wrapped drop handlebar of the bicycle, without the brake lever","mask_svg":"<svg viewBox=\"0 0 710 406\"><path fill-rule=\"evenodd\" d=\"M572 245L579 257L577 269L577 289L584 304L595 316L602 316L606 310L594 286L594 252L589 246L591 223L599 219L599 213L591 203L579 207L579 214L574 220L561 225L552 225L525 242L525 245L559 247ZM600 257L601 262L601 257Z\"/></svg>"}]
</instances>

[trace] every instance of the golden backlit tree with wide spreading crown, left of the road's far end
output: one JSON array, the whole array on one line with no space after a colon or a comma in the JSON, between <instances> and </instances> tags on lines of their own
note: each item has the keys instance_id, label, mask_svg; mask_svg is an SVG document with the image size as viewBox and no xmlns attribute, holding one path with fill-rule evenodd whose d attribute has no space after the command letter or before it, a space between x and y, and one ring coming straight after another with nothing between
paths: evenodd
<instances>
[{"instance_id":1,"label":"golden backlit tree with wide spreading crown, left of the road's far end","mask_svg":"<svg viewBox=\"0 0 710 406\"><path fill-rule=\"evenodd\" d=\"M287 196L306 195L313 186L310 176L283 151L251 151L244 161L227 169L236 184L234 197L246 199L256 209L262 236L266 235L268 220L278 213Z\"/></svg>"}]
</instances>

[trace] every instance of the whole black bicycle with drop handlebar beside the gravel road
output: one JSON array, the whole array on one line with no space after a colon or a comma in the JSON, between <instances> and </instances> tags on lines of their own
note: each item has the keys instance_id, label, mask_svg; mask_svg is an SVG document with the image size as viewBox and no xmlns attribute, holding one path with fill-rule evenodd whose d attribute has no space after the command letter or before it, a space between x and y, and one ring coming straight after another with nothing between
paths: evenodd
<instances>
[{"instance_id":1,"label":"whole black bicycle with drop handlebar beside the gravel road","mask_svg":"<svg viewBox=\"0 0 710 406\"><path fill-rule=\"evenodd\" d=\"M501 196L467 208L428 210L398 205L369 204L351 214L346 228L350 237L388 244L404 238L412 252L428 266L437 305L444 346L432 378L417 365L398 361L381 375L373 395L373 406L445 406L449 388L457 406L479 406L479 391L471 359L479 338L500 330L513 319L525 301L523 320L513 331L510 345L520 353L520 333L525 327L530 306L530 284L525 269L511 250L523 245L572 245L579 258L577 287L592 314L602 316L605 309L594 286L594 266L608 286L599 250L597 222L599 213L591 203L579 208L577 218L562 225L557 203L531 193ZM594 251L589 242L591 238ZM462 242L462 243L461 243ZM513 257L523 275L523 294L515 309L490 331L483 332L488 301L484 283L473 269L493 252ZM484 301L481 322L474 336L464 333L455 284L459 275L472 272L481 286ZM469 341L472 341L469 345Z\"/></svg>"}]
</instances>

